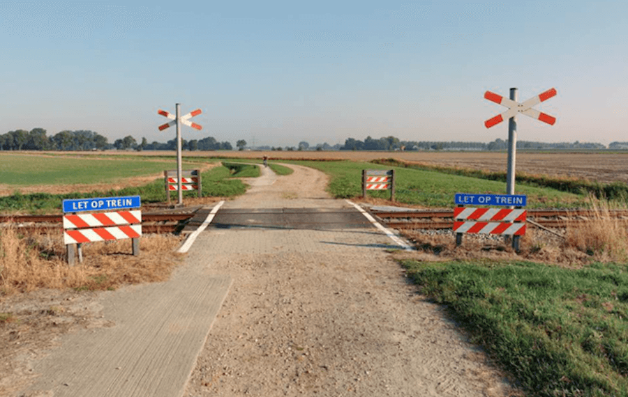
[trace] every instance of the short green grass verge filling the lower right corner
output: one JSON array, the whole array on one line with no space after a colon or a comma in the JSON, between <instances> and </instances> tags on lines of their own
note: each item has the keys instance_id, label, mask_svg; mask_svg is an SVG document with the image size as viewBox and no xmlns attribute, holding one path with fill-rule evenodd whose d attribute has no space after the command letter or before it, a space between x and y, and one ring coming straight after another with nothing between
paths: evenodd
<instances>
[{"instance_id":1,"label":"short green grass verge filling the lower right corner","mask_svg":"<svg viewBox=\"0 0 628 397\"><path fill-rule=\"evenodd\" d=\"M628 266L402 262L531 396L628 394Z\"/></svg>"}]
</instances>

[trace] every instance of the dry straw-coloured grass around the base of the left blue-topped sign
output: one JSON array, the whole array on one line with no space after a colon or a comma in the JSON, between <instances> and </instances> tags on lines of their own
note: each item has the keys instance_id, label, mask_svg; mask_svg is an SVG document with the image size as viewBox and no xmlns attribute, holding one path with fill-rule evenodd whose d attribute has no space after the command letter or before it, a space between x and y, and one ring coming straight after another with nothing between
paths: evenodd
<instances>
[{"instance_id":1,"label":"dry straw-coloured grass around the base of the left blue-topped sign","mask_svg":"<svg viewBox=\"0 0 628 397\"><path fill-rule=\"evenodd\" d=\"M140 255L130 240L84 244L84 262L70 267L61 235L20 235L13 225L0 231L0 297L39 288L115 289L129 283L163 281L177 263L181 242L172 235L144 235ZM53 237L51 237L53 236Z\"/></svg>"}]
</instances>

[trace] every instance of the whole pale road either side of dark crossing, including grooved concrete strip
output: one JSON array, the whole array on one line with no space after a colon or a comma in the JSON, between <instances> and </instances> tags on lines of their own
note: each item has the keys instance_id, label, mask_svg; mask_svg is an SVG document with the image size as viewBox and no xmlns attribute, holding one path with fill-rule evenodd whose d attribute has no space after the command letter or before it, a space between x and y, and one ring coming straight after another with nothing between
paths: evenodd
<instances>
[{"instance_id":1,"label":"whole pale road either side of dark crossing, including grooved concrete strip","mask_svg":"<svg viewBox=\"0 0 628 397\"><path fill-rule=\"evenodd\" d=\"M352 210L329 198L323 173L289 166L290 176L262 169L247 180L247 194L223 208L255 210L251 217L337 210L339 223ZM7 361L0 390L20 397L518 395L442 307L406 281L387 235L290 228L281 219L277 226L210 225L170 281L61 299L56 311L82 329L48 352L24 350L22 364ZM47 294L39 306L52 305Z\"/></svg>"}]
</instances>

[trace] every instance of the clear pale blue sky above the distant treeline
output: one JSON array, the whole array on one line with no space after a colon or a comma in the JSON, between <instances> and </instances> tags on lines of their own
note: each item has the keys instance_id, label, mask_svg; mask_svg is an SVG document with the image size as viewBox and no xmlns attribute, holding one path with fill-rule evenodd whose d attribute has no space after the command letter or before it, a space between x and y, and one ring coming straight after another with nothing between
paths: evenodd
<instances>
[{"instance_id":1,"label":"clear pale blue sky above the distant treeline","mask_svg":"<svg viewBox=\"0 0 628 397\"><path fill-rule=\"evenodd\" d=\"M555 125L520 115L518 140L628 141L625 0L0 0L0 49L0 134L165 142L180 103L186 140L490 142L485 91L554 87Z\"/></svg>"}]
</instances>

